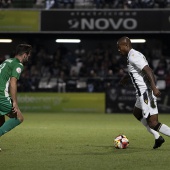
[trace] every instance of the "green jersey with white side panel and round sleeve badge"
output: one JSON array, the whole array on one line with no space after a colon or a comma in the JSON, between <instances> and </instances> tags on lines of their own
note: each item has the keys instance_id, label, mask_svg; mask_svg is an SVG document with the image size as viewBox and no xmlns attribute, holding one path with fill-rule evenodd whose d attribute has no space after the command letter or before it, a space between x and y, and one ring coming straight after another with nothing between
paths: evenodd
<instances>
[{"instance_id":1,"label":"green jersey with white side panel and round sleeve badge","mask_svg":"<svg viewBox=\"0 0 170 170\"><path fill-rule=\"evenodd\" d=\"M7 59L0 65L0 97L9 96L10 78L19 79L23 69L23 64L17 58Z\"/></svg>"}]
</instances>

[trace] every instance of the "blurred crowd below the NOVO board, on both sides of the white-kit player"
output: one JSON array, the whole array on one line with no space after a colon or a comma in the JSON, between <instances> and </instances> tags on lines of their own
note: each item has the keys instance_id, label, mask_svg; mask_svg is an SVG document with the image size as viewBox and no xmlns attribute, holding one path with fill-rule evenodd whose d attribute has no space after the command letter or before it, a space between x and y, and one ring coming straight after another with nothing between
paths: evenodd
<instances>
[{"instance_id":1,"label":"blurred crowd below the NOVO board, on both sides of the white-kit player","mask_svg":"<svg viewBox=\"0 0 170 170\"><path fill-rule=\"evenodd\" d=\"M162 55L161 49L139 46L137 50L146 55L156 79L165 81L169 88L170 58ZM81 44L74 50L58 45L55 51L48 51L46 46L33 45L32 57L19 81L19 91L40 90L42 79L57 78L58 85L64 86L63 91L76 91L76 82L83 80L87 84L85 91L103 92L117 86L126 74L126 57L121 57L110 44L99 43L91 50ZM51 90L57 91L57 87Z\"/></svg>"}]
</instances>

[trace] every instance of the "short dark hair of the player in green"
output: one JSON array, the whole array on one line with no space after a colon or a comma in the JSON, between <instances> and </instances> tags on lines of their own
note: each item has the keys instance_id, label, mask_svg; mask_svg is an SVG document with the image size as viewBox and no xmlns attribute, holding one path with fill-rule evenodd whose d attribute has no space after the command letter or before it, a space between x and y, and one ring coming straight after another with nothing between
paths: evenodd
<instances>
[{"instance_id":1,"label":"short dark hair of the player in green","mask_svg":"<svg viewBox=\"0 0 170 170\"><path fill-rule=\"evenodd\" d=\"M32 46L29 44L19 44L16 48L15 55L22 55L26 53L27 55L31 53Z\"/></svg>"}]
</instances>

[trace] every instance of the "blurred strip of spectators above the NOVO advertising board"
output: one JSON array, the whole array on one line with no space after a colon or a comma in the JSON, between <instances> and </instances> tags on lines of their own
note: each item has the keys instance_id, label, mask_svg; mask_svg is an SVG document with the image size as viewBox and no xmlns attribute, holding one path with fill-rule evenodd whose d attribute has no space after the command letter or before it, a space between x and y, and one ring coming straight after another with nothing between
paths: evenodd
<instances>
[{"instance_id":1,"label":"blurred strip of spectators above the NOVO advertising board","mask_svg":"<svg viewBox=\"0 0 170 170\"><path fill-rule=\"evenodd\" d=\"M1 8L168 8L169 0L0 0Z\"/></svg>"}]
</instances>

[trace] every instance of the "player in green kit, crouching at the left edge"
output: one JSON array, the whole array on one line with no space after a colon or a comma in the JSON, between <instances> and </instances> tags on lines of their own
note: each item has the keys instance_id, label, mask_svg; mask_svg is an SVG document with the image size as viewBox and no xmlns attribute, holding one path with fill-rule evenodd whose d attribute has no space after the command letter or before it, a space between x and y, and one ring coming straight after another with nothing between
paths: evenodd
<instances>
[{"instance_id":1,"label":"player in green kit, crouching at the left edge","mask_svg":"<svg viewBox=\"0 0 170 170\"><path fill-rule=\"evenodd\" d=\"M15 57L5 60L0 65L0 137L23 122L23 115L18 107L17 80L24 64L31 55L32 47L28 44L19 44ZM5 121L4 116L9 119Z\"/></svg>"}]
</instances>

